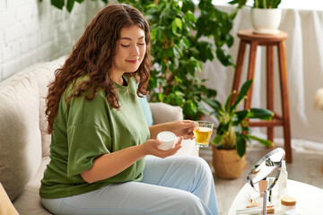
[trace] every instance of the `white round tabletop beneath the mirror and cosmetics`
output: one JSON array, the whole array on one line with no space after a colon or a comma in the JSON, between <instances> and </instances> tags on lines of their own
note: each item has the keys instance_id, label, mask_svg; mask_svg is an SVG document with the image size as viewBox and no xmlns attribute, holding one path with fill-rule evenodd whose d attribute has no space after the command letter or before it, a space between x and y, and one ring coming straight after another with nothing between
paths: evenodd
<instances>
[{"instance_id":1,"label":"white round tabletop beneath the mirror and cosmetics","mask_svg":"<svg viewBox=\"0 0 323 215\"><path fill-rule=\"evenodd\" d=\"M301 215L319 215L323 214L323 190L318 187L307 185L298 181L287 181L288 193L296 198L296 209ZM273 188L273 202L275 205L275 215L284 214L280 211L280 199L276 195L276 187ZM231 204L228 215L236 215L238 209L246 208L249 204L249 195L258 203L262 203L262 197L249 184L244 185ZM268 202L268 205L270 203ZM269 214L268 214L269 215Z\"/></svg>"}]
</instances>

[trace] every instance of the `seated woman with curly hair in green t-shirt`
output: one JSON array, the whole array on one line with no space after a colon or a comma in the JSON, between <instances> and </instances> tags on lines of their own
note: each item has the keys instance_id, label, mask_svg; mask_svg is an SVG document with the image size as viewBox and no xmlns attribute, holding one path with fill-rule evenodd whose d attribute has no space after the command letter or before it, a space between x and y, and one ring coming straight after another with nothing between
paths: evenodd
<instances>
[{"instance_id":1,"label":"seated woman with curly hair in green t-shirt","mask_svg":"<svg viewBox=\"0 0 323 215\"><path fill-rule=\"evenodd\" d=\"M49 85L50 162L41 202L54 214L217 214L214 179L204 159L170 157L194 123L148 127L138 96L150 69L144 16L111 4L92 20ZM159 150L156 135L179 136ZM154 155L166 159L144 159Z\"/></svg>"}]
</instances>

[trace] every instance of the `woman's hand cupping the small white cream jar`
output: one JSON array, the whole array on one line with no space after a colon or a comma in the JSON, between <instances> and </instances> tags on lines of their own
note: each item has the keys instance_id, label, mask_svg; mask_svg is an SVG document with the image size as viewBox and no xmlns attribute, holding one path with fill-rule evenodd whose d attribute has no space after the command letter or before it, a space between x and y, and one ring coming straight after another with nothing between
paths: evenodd
<instances>
[{"instance_id":1,"label":"woman's hand cupping the small white cream jar","mask_svg":"<svg viewBox=\"0 0 323 215\"><path fill-rule=\"evenodd\" d=\"M150 139L143 144L139 145L144 151L144 155L154 155L159 158L167 158L171 155L174 155L180 148L183 137L179 137L179 141L175 144L175 147L170 150L160 150L158 145L161 144L160 140Z\"/></svg>"}]
</instances>

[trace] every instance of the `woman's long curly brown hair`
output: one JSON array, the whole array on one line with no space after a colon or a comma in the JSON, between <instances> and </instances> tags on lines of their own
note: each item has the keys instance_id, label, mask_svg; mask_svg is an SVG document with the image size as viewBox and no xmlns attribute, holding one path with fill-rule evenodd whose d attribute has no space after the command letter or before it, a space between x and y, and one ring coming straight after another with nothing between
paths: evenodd
<instances>
[{"instance_id":1,"label":"woman's long curly brown hair","mask_svg":"<svg viewBox=\"0 0 323 215\"><path fill-rule=\"evenodd\" d=\"M127 4L110 4L98 13L74 45L65 64L55 71L55 80L48 85L47 109L48 133L52 133L54 119L57 116L59 100L70 83L87 74L88 80L78 84L76 90L65 98L70 102L73 97L83 95L94 99L99 89L105 91L111 107L119 108L114 82L110 79L113 57L117 50L120 31L137 25L144 30L146 52L142 64L135 73L125 73L127 78L134 77L139 82L137 95L146 95L151 66L150 31L144 15ZM90 93L83 93L85 91Z\"/></svg>"}]
</instances>

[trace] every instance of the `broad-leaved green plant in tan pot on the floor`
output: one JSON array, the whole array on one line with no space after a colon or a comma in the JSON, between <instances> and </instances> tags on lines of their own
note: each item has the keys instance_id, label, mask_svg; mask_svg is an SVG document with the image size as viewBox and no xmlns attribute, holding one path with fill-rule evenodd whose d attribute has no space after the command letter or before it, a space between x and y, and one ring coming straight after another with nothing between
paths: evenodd
<instances>
[{"instance_id":1,"label":"broad-leaved green plant in tan pot on the floor","mask_svg":"<svg viewBox=\"0 0 323 215\"><path fill-rule=\"evenodd\" d=\"M251 140L271 147L273 142L251 135L249 119L271 120L274 113L264 108L249 108L247 110L237 110L241 101L246 98L253 80L245 82L235 100L232 100L231 92L225 104L218 100L205 98L205 103L213 108L211 115L218 120L218 125L214 126L215 137L212 141L214 152L215 174L222 178L237 178L245 168L245 154L247 142ZM234 165L233 165L234 164Z\"/></svg>"}]
</instances>

